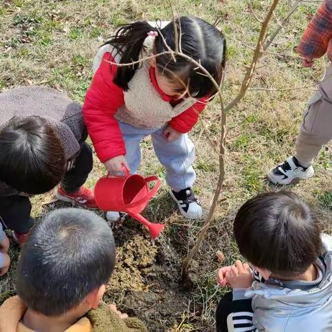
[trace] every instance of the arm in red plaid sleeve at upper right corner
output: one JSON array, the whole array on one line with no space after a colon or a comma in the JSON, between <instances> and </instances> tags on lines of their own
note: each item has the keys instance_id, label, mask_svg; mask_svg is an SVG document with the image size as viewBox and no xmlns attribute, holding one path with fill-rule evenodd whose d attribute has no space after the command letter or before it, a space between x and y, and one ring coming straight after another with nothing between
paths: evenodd
<instances>
[{"instance_id":1,"label":"arm in red plaid sleeve at upper right corner","mask_svg":"<svg viewBox=\"0 0 332 332\"><path fill-rule=\"evenodd\" d=\"M332 38L332 1L324 1L317 14L304 30L304 35L297 48L305 57L304 66L312 66L315 57L322 57Z\"/></svg>"}]
</instances>

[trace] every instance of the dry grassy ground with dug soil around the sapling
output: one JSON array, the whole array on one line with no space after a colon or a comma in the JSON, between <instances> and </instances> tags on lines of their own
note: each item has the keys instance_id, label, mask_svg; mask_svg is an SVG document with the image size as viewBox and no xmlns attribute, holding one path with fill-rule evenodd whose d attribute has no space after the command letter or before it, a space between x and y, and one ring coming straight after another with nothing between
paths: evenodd
<instances>
[{"instance_id":1,"label":"dry grassy ground with dug soil around the sapling","mask_svg":"<svg viewBox=\"0 0 332 332\"><path fill-rule=\"evenodd\" d=\"M270 32L288 12L291 1L282 0L273 18ZM167 3L167 1L166 1ZM37 1L4 0L0 5L0 89L41 84L64 91L82 102L91 81L91 60L102 40L120 24L136 19L170 19L165 1L81 0ZM174 11L181 15L200 15L214 23L228 37L228 68L225 100L237 93L245 66L259 33L259 21L270 1L178 0ZM317 1L303 3L290 23L277 37L271 53L261 59L252 86L288 89L310 86L324 72L326 59L311 70L300 66L294 48L317 8ZM114 230L118 246L116 271L109 282L105 300L116 302L122 311L137 315L149 331L213 331L214 310L221 296L215 272L219 267L216 250L222 250L226 263L238 257L232 238L232 218L246 199L267 190L280 190L264 178L270 167L293 152L297 128L306 102L314 87L291 91L249 91L239 106L228 114L227 176L214 223L199 255L192 264L194 288L185 292L178 284L183 256L196 237L201 222L184 220L167 194L163 167L153 154L149 139L142 142L142 174L158 174L163 189L151 201L145 215L151 221L165 222L167 228L158 241L151 241L134 221L126 221ZM197 148L196 193L205 209L209 207L217 178L217 158L210 145L219 137L219 109L216 102L204 112L203 131L199 122L191 133ZM316 175L309 181L291 185L313 203L322 221L322 229L331 232L331 148L325 147L315 163ZM95 158L95 169L88 185L104 174ZM43 216L60 208L50 203L51 195L33 199L33 214ZM255 230L253 230L255 231ZM12 248L12 268L1 278L0 291L14 288L17 248Z\"/></svg>"}]
</instances>

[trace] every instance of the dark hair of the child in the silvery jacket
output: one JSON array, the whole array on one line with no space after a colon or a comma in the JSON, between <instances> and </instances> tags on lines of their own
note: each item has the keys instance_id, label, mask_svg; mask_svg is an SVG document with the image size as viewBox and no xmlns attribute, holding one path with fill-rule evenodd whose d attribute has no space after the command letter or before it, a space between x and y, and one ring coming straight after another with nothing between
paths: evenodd
<instances>
[{"instance_id":1,"label":"dark hair of the child in the silvery jacket","mask_svg":"<svg viewBox=\"0 0 332 332\"><path fill-rule=\"evenodd\" d=\"M268 192L237 212L234 236L243 257L282 277L304 273L322 242L313 211L293 192Z\"/></svg>"}]
</instances>

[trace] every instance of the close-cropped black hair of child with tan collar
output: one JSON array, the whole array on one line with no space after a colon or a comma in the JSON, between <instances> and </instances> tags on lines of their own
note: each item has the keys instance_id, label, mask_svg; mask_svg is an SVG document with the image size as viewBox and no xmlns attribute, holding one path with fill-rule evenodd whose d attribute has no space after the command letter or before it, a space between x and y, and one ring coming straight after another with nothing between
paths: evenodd
<instances>
[{"instance_id":1,"label":"close-cropped black hair of child with tan collar","mask_svg":"<svg viewBox=\"0 0 332 332\"><path fill-rule=\"evenodd\" d=\"M116 248L109 225L89 210L50 212L24 245L17 294L33 311L57 316L107 284Z\"/></svg>"}]
</instances>

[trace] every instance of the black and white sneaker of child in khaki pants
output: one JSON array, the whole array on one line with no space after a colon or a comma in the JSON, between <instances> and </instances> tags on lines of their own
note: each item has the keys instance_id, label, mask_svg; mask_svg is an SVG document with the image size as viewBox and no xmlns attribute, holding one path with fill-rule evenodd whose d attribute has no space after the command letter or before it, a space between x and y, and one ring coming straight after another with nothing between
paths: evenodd
<instances>
[{"instance_id":1,"label":"black and white sneaker of child in khaki pants","mask_svg":"<svg viewBox=\"0 0 332 332\"><path fill-rule=\"evenodd\" d=\"M283 164L270 169L268 179L275 185L288 185L296 179L311 178L313 166L303 167L294 156L289 157Z\"/></svg>"}]
</instances>

